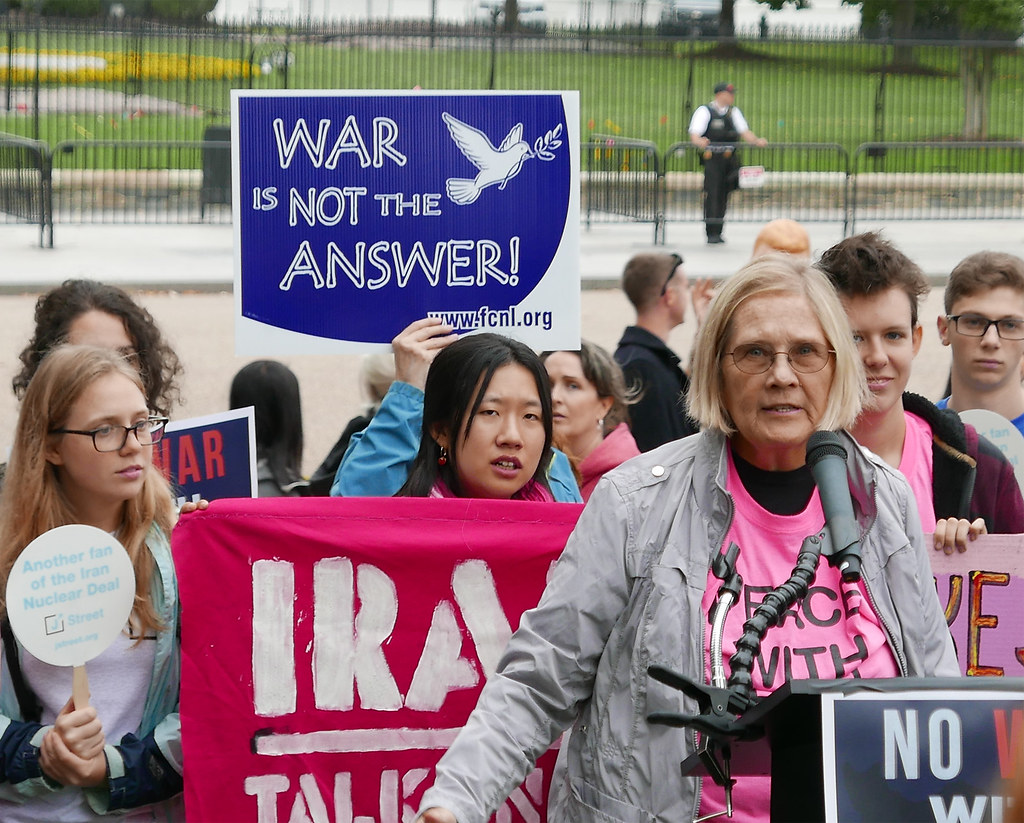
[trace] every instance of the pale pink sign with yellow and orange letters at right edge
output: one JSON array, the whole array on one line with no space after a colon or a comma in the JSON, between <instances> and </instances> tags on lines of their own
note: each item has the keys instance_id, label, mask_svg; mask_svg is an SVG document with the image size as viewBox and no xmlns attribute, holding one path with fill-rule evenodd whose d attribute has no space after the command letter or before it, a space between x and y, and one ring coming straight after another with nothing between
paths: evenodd
<instances>
[{"instance_id":1,"label":"pale pink sign with yellow and orange letters at right edge","mask_svg":"<svg viewBox=\"0 0 1024 823\"><path fill-rule=\"evenodd\" d=\"M932 572L961 670L1024 677L1024 534L987 534L964 553L932 552Z\"/></svg>"}]
</instances>

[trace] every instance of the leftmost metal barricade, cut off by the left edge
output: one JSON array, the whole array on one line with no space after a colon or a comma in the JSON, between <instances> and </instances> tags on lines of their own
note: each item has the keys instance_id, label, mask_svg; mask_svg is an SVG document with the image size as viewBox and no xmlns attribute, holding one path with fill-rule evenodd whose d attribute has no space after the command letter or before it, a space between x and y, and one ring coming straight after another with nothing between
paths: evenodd
<instances>
[{"instance_id":1,"label":"leftmost metal barricade, cut off by the left edge","mask_svg":"<svg viewBox=\"0 0 1024 823\"><path fill-rule=\"evenodd\" d=\"M0 213L39 223L39 245L53 247L50 149L46 143L0 135Z\"/></svg>"}]
</instances>

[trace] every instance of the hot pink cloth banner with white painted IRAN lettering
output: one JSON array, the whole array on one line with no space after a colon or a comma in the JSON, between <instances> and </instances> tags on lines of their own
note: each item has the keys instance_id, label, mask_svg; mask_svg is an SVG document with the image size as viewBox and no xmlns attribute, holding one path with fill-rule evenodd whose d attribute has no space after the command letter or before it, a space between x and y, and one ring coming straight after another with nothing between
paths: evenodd
<instances>
[{"instance_id":1,"label":"hot pink cloth banner with white painted IRAN lettering","mask_svg":"<svg viewBox=\"0 0 1024 823\"><path fill-rule=\"evenodd\" d=\"M411 821L582 507L215 501L174 530L193 821ZM545 819L554 756L499 811Z\"/></svg>"}]
</instances>

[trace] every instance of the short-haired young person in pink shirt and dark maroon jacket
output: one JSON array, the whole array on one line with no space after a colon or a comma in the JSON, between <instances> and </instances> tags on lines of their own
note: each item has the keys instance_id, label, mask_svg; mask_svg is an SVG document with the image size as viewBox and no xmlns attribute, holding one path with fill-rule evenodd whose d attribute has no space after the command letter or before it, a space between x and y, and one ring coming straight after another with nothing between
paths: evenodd
<instances>
[{"instance_id":1,"label":"short-haired young person in pink shirt and dark maroon jacket","mask_svg":"<svg viewBox=\"0 0 1024 823\"><path fill-rule=\"evenodd\" d=\"M838 243L817 267L840 293L874 399L850 432L909 481L935 549L963 552L979 534L1024 531L1024 500L1002 452L955 413L906 391L923 335L919 303L931 289L921 268L874 232Z\"/></svg>"}]
</instances>

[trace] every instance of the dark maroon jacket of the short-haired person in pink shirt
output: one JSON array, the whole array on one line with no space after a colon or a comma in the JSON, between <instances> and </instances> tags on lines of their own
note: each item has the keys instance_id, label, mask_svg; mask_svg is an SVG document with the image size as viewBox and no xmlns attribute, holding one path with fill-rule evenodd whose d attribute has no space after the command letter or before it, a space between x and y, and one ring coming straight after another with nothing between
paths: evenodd
<instances>
[{"instance_id":1,"label":"dark maroon jacket of the short-haired person in pink shirt","mask_svg":"<svg viewBox=\"0 0 1024 823\"><path fill-rule=\"evenodd\" d=\"M911 392L903 408L932 428L935 517L985 519L989 534L1024 532L1024 499L1004 453L948 408Z\"/></svg>"}]
</instances>

